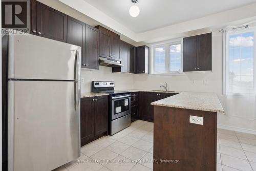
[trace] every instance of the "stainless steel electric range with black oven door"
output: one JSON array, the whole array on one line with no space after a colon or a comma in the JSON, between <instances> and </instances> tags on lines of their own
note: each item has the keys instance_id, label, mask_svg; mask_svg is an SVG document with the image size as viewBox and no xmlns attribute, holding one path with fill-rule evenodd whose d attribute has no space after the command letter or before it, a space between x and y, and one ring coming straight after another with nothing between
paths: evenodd
<instances>
[{"instance_id":1,"label":"stainless steel electric range with black oven door","mask_svg":"<svg viewBox=\"0 0 256 171\"><path fill-rule=\"evenodd\" d=\"M131 92L115 91L114 81L92 81L92 92L109 93L109 134L131 125Z\"/></svg>"}]
</instances>

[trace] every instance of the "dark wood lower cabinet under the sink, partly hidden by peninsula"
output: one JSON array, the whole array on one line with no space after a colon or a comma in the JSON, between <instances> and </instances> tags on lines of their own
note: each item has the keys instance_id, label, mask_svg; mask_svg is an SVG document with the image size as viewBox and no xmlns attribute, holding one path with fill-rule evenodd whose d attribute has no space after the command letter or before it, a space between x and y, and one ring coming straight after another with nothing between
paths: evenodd
<instances>
[{"instance_id":1,"label":"dark wood lower cabinet under the sink, partly hidden by peninsula","mask_svg":"<svg viewBox=\"0 0 256 171\"><path fill-rule=\"evenodd\" d=\"M154 108L152 102L176 95L175 93L140 92L139 119L153 122Z\"/></svg>"}]
</instances>

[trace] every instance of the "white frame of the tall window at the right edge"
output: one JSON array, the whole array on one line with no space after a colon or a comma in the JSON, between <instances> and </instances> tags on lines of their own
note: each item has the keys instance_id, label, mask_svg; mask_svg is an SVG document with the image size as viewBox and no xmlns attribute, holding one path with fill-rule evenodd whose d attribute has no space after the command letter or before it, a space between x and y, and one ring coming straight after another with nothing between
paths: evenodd
<instances>
[{"instance_id":1,"label":"white frame of the tall window at the right edge","mask_svg":"<svg viewBox=\"0 0 256 171\"><path fill-rule=\"evenodd\" d=\"M229 36L234 35L234 34L242 34L242 33L248 33L248 32L254 32L254 37L253 37L253 89L238 89L237 91L228 91L228 86L229 86ZM227 31L224 33L223 37L223 46L224 51L223 51L223 94L224 95L255 95L256 94L256 28L247 28L247 29L242 29L239 31Z\"/></svg>"}]
</instances>

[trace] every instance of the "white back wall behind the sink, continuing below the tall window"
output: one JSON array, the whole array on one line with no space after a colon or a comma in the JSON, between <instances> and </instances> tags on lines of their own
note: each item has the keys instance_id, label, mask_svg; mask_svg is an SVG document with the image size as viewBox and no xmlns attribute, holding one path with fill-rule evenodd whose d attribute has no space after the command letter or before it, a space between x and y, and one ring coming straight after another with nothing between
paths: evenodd
<instances>
[{"instance_id":1,"label":"white back wall behind the sink, continuing below the tall window","mask_svg":"<svg viewBox=\"0 0 256 171\"><path fill-rule=\"evenodd\" d=\"M195 80L195 83L193 81ZM204 80L209 84L205 85ZM218 95L225 114L218 114L218 124L253 130L256 133L255 96L222 95L222 34L212 33L212 72L188 72L181 76L135 75L135 89L160 90L160 84L167 82L170 90L214 92ZM247 130L248 129L248 130Z\"/></svg>"}]
</instances>

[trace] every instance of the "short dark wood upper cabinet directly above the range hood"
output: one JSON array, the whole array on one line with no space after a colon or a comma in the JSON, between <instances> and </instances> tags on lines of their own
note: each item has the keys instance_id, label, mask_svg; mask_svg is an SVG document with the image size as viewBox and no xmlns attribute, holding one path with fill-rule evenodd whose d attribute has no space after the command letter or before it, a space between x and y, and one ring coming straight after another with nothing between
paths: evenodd
<instances>
[{"instance_id":1,"label":"short dark wood upper cabinet directly above the range hood","mask_svg":"<svg viewBox=\"0 0 256 171\"><path fill-rule=\"evenodd\" d=\"M99 29L99 56L120 60L120 35L96 26Z\"/></svg>"}]
</instances>

